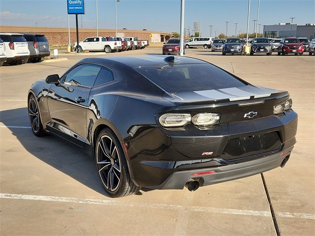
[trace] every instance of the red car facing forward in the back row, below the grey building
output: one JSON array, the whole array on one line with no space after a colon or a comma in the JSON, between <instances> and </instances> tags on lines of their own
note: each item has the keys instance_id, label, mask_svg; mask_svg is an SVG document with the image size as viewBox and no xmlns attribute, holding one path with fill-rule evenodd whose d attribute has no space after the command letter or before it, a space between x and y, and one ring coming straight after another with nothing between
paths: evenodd
<instances>
[{"instance_id":1,"label":"red car facing forward in the back row, below the grey building","mask_svg":"<svg viewBox=\"0 0 315 236\"><path fill-rule=\"evenodd\" d=\"M298 38L283 38L278 46L278 55L295 54L303 55L304 45Z\"/></svg>"}]
</instances>

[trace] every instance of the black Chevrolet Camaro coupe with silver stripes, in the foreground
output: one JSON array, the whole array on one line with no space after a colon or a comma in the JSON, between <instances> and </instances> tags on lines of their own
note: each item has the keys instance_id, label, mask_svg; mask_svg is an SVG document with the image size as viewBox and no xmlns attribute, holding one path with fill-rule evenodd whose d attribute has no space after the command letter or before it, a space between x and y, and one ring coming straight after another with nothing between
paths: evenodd
<instances>
[{"instance_id":1,"label":"black Chevrolet Camaro coupe with silver stripes, in the foreground","mask_svg":"<svg viewBox=\"0 0 315 236\"><path fill-rule=\"evenodd\" d=\"M286 91L158 55L83 59L28 94L33 133L91 150L112 197L193 191L283 167L296 143L291 106Z\"/></svg>"}]
</instances>

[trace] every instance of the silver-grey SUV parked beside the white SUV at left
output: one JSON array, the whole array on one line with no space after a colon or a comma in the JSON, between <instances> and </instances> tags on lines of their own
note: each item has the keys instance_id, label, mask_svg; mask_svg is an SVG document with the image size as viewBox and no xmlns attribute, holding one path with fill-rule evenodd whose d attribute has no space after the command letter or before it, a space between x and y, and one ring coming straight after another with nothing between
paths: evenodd
<instances>
[{"instance_id":1,"label":"silver-grey SUV parked beside the white SUV at left","mask_svg":"<svg viewBox=\"0 0 315 236\"><path fill-rule=\"evenodd\" d=\"M30 50L30 61L40 62L42 58L50 56L49 43L44 34L24 33Z\"/></svg>"}]
</instances>

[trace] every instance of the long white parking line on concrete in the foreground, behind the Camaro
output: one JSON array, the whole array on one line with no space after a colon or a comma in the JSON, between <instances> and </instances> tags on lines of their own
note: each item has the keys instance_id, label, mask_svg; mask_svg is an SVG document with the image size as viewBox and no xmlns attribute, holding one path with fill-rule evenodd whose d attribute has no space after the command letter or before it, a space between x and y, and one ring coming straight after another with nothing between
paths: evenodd
<instances>
[{"instance_id":1,"label":"long white parking line on concrete in the foreground, behind the Camaro","mask_svg":"<svg viewBox=\"0 0 315 236\"><path fill-rule=\"evenodd\" d=\"M216 207L183 207L180 205L169 205L169 204L158 204L158 203L157 204L127 203L127 202L121 202L121 201L115 201L115 200L81 199L81 198L66 198L66 197L9 194L9 193L0 193L0 198L48 201L48 202L95 204L95 205L116 205L116 206L125 206L125 207L144 207L144 208L158 208L158 209L168 209L168 210L186 209L188 211L190 210L190 211L202 211L202 212L232 214L232 215L252 215L252 216L271 217L271 213L269 211L263 211L263 210L240 210L240 209L225 209L225 208L216 208ZM301 219L311 219L311 220L315 219L315 214L290 213L290 212L278 212L276 214L280 217L285 217L285 218L301 218Z\"/></svg>"}]
</instances>

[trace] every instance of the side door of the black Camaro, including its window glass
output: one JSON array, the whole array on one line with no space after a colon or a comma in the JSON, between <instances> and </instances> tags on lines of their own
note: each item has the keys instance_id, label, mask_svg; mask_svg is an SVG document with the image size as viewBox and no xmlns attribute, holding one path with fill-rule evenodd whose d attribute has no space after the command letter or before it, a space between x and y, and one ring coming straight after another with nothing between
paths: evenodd
<instances>
[{"instance_id":1,"label":"side door of the black Camaro, including its window glass","mask_svg":"<svg viewBox=\"0 0 315 236\"><path fill-rule=\"evenodd\" d=\"M100 65L82 63L71 68L53 84L48 95L51 122L47 129L83 146L87 138L87 107L91 88L101 69Z\"/></svg>"}]
</instances>

